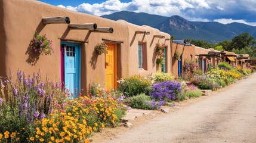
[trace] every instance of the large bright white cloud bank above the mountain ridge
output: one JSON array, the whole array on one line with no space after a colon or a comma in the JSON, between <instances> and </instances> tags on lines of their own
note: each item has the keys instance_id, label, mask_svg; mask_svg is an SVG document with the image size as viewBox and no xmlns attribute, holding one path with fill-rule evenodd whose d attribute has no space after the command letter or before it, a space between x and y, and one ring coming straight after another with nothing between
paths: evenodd
<instances>
[{"instance_id":1,"label":"large bright white cloud bank above the mountain ridge","mask_svg":"<svg viewBox=\"0 0 256 143\"><path fill-rule=\"evenodd\" d=\"M131 2L121 2L119 0L107 0L101 4L83 3L77 7L58 5L73 11L80 11L94 15L111 14L116 11L134 11L149 14L159 14L171 16L180 14L187 8L210 8L205 0L132 0Z\"/></svg>"}]
</instances>

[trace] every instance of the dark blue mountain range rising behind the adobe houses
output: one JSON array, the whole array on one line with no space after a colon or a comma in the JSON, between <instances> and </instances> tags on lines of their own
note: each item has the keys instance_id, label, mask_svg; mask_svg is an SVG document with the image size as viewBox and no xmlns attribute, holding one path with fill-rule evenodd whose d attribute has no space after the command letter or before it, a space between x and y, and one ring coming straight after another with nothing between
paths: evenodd
<instances>
[{"instance_id":1,"label":"dark blue mountain range rising behind the adobe houses","mask_svg":"<svg viewBox=\"0 0 256 143\"><path fill-rule=\"evenodd\" d=\"M161 30L162 32L174 35L175 39L195 39L207 42L220 42L231 40L240 33L247 32L256 38L256 27L242 23L221 24L218 22L189 21L178 15L164 17L147 13L134 13L120 11L101 17L111 20L125 20L137 25L148 25Z\"/></svg>"}]
</instances>

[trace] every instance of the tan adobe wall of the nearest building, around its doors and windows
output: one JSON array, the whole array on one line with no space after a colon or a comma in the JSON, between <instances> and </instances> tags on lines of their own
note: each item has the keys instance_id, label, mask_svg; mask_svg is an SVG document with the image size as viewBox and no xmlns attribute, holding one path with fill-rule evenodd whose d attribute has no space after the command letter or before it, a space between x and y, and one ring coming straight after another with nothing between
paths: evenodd
<instances>
[{"instance_id":1,"label":"tan adobe wall of the nearest building, around its doors and windows","mask_svg":"<svg viewBox=\"0 0 256 143\"><path fill-rule=\"evenodd\" d=\"M32 74L40 69L42 77L60 81L61 39L86 41L81 42L81 86L87 92L90 83L96 82L96 79L99 80L101 85L104 85L105 56L104 54L98 55L94 52L94 46L97 43L103 42L102 39L122 42L118 44L118 78L127 73L128 75L148 75L155 72L156 66L150 65L153 61L155 43L159 40L159 42L166 42L166 45L169 45L169 41L153 38L153 35L164 35L166 38L170 36L151 27L135 26L122 20L108 20L95 15L54 7L53 5L38 1L4 0L1 2L3 3L4 10L1 7L0 16L4 17L4 23L0 22L0 42L4 46L1 47L3 50L0 53L0 62L4 62L1 63L1 66L3 66L0 69L0 76L8 74L9 69L13 73L16 73L19 69L27 74ZM114 32L112 34L90 33L88 30L70 30L67 24L45 25L42 23L43 17L52 16L67 16L70 18L71 23L97 23L98 27L113 27ZM4 32L2 32L3 30ZM135 30L147 30L150 32L150 35L143 36L140 34L134 38ZM52 55L36 56L34 52L28 49L35 32L38 32L39 35L46 34L53 41L55 52ZM131 43L132 40L133 43ZM147 45L147 71L138 70L138 42L144 42ZM168 52L170 53L170 51ZM169 66L170 63L168 63ZM170 68L168 68L168 71L170 71Z\"/></svg>"}]
</instances>

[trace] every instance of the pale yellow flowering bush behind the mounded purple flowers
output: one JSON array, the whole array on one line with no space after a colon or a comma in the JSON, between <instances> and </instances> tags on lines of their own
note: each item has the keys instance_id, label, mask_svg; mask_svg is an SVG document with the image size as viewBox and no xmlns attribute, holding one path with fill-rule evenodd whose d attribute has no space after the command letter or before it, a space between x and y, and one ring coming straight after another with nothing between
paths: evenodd
<instances>
[{"instance_id":1,"label":"pale yellow flowering bush behind the mounded purple flowers","mask_svg":"<svg viewBox=\"0 0 256 143\"><path fill-rule=\"evenodd\" d=\"M174 76L172 76L171 73L157 72L157 73L152 74L151 79L154 83L155 82L164 82L166 80L174 79Z\"/></svg>"}]
</instances>

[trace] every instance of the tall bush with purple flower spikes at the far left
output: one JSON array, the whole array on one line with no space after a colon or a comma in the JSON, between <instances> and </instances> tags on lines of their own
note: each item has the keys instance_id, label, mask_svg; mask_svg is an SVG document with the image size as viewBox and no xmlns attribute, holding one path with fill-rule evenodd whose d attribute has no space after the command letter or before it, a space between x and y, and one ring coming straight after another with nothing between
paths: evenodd
<instances>
[{"instance_id":1,"label":"tall bush with purple flower spikes at the far left","mask_svg":"<svg viewBox=\"0 0 256 143\"><path fill-rule=\"evenodd\" d=\"M54 109L60 110L66 103L66 92L60 83L42 82L40 73L27 76L17 71L17 81L0 77L0 141L26 142L36 120L44 119ZM9 135L12 133L13 135Z\"/></svg>"}]
</instances>

